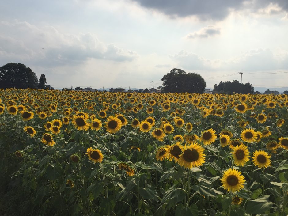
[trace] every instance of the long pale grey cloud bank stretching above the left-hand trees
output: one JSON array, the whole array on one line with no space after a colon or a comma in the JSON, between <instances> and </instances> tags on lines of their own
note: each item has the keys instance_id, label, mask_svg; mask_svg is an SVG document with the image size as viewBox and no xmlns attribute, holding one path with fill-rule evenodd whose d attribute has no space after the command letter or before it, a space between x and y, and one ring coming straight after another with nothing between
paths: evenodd
<instances>
[{"instance_id":1,"label":"long pale grey cloud bank stretching above the left-hand trees","mask_svg":"<svg viewBox=\"0 0 288 216\"><path fill-rule=\"evenodd\" d=\"M0 23L1 62L28 62L41 66L83 63L89 58L116 62L132 61L138 54L104 44L95 34L63 34L53 26L37 27L28 22Z\"/></svg>"}]
</instances>

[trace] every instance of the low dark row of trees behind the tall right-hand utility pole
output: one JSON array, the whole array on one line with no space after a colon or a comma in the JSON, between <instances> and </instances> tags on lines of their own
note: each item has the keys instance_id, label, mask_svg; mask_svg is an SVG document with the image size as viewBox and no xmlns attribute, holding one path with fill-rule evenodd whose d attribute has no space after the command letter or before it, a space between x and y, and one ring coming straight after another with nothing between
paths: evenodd
<instances>
[{"instance_id":1,"label":"low dark row of trees behind the tall right-hand utility pole","mask_svg":"<svg viewBox=\"0 0 288 216\"><path fill-rule=\"evenodd\" d=\"M233 80L233 82L226 81L226 82L220 82L218 85L214 85L214 90L225 93L225 94L232 94L233 92L240 94L240 82L237 80ZM242 83L242 94L253 94L254 93L254 87L249 82L243 84Z\"/></svg>"}]
</instances>

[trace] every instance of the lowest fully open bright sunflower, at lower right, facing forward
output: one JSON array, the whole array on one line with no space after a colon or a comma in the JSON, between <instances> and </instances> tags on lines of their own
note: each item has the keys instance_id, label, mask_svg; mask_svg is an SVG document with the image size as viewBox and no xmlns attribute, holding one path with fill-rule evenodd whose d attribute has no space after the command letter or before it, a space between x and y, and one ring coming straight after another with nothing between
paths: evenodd
<instances>
[{"instance_id":1,"label":"lowest fully open bright sunflower, at lower right, facing forward","mask_svg":"<svg viewBox=\"0 0 288 216\"><path fill-rule=\"evenodd\" d=\"M235 191L240 191L242 188L244 188L244 176L242 176L242 173L240 171L237 171L236 169L229 168L226 170L223 174L223 177L221 180L221 183L225 190L228 192L231 191L232 193Z\"/></svg>"}]
</instances>

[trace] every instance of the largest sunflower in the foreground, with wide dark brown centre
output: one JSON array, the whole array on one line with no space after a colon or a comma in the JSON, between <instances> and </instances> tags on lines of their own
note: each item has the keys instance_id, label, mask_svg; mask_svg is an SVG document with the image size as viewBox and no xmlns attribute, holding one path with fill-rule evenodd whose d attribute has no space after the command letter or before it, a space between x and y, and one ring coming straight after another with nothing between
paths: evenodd
<instances>
[{"instance_id":1,"label":"largest sunflower in the foreground, with wide dark brown centre","mask_svg":"<svg viewBox=\"0 0 288 216\"><path fill-rule=\"evenodd\" d=\"M205 162L205 154L203 154L203 151L204 148L197 143L192 143L189 146L185 144L178 163L189 169L195 166L201 166Z\"/></svg>"}]
</instances>

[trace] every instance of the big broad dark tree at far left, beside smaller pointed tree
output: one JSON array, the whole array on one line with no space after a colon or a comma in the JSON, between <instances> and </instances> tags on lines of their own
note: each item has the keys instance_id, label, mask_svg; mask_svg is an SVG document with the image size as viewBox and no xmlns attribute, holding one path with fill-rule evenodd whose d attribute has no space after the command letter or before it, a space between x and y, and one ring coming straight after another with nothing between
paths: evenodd
<instances>
[{"instance_id":1,"label":"big broad dark tree at far left, beside smaller pointed tree","mask_svg":"<svg viewBox=\"0 0 288 216\"><path fill-rule=\"evenodd\" d=\"M35 73L24 64L8 63L0 67L1 88L36 89L37 85Z\"/></svg>"}]
</instances>

